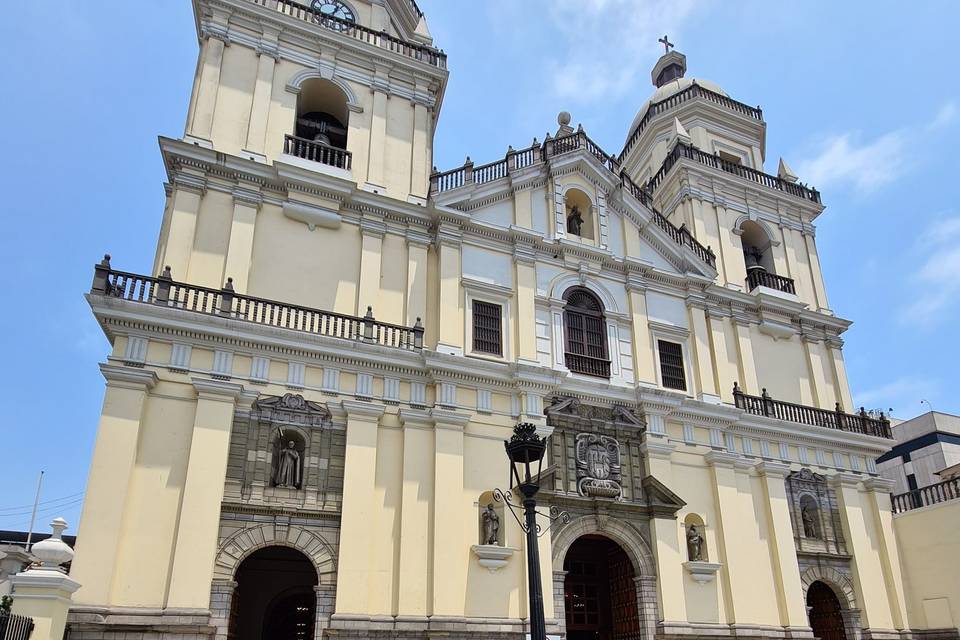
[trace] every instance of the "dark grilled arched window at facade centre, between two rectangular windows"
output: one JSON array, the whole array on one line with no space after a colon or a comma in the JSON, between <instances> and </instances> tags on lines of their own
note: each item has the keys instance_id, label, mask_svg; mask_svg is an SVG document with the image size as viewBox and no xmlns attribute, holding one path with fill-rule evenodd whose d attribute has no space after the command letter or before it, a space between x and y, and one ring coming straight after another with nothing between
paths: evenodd
<instances>
[{"instance_id":1,"label":"dark grilled arched window at facade centre, between two rectangular windows","mask_svg":"<svg viewBox=\"0 0 960 640\"><path fill-rule=\"evenodd\" d=\"M567 368L574 373L609 378L603 305L593 293L579 287L568 290L563 299L567 303L563 309Z\"/></svg>"}]
</instances>

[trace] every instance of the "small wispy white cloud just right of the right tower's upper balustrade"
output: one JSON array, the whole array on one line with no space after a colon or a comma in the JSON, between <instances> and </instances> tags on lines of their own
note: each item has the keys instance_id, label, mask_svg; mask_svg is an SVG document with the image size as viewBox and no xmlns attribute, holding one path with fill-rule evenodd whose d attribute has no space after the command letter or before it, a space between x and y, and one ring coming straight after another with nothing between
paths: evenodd
<instances>
[{"instance_id":1,"label":"small wispy white cloud just right of the right tower's upper balustrade","mask_svg":"<svg viewBox=\"0 0 960 640\"><path fill-rule=\"evenodd\" d=\"M798 173L820 189L849 183L862 193L873 192L903 170L906 143L902 130L862 143L855 133L831 136L823 141L818 155L797 165Z\"/></svg>"}]
</instances>

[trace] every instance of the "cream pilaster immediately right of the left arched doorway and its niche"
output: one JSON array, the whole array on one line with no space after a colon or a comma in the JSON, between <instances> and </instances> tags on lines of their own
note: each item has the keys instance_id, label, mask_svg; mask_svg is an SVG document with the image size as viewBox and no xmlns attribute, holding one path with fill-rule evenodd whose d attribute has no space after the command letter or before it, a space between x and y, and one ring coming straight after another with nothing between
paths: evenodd
<instances>
[{"instance_id":1,"label":"cream pilaster immediately right of the left arched doorway and its niche","mask_svg":"<svg viewBox=\"0 0 960 640\"><path fill-rule=\"evenodd\" d=\"M369 402L342 401L347 414L343 469L343 509L337 567L337 613L369 614L370 556L375 520L377 430L383 407Z\"/></svg>"}]
</instances>

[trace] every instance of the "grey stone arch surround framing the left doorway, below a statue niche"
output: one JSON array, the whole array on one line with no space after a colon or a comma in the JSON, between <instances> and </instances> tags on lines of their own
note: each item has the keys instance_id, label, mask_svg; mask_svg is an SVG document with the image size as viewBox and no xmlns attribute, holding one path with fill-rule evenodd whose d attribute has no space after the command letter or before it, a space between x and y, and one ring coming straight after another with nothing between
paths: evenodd
<instances>
[{"instance_id":1,"label":"grey stone arch surround framing the left doorway, below a statue niche","mask_svg":"<svg viewBox=\"0 0 960 640\"><path fill-rule=\"evenodd\" d=\"M302 553L317 574L316 637L329 626L336 601L336 556L327 542L316 533L283 522L241 529L220 544L210 591L210 623L216 628L216 640L228 640L232 605L237 588L236 576L241 563L267 547L288 547Z\"/></svg>"}]
</instances>

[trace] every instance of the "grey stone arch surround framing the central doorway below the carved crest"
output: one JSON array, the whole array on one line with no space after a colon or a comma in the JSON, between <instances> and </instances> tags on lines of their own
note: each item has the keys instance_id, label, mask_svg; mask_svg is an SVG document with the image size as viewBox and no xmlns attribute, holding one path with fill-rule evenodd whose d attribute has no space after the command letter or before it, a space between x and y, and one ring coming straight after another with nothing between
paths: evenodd
<instances>
[{"instance_id":1,"label":"grey stone arch surround framing the central doorway below the carved crest","mask_svg":"<svg viewBox=\"0 0 960 640\"><path fill-rule=\"evenodd\" d=\"M553 540L554 612L559 624L565 625L564 608L567 572L564 569L571 547L584 537L603 537L623 550L633 569L640 637L654 640L657 630L656 562L650 546L630 524L606 516L588 515L564 527Z\"/></svg>"}]
</instances>

